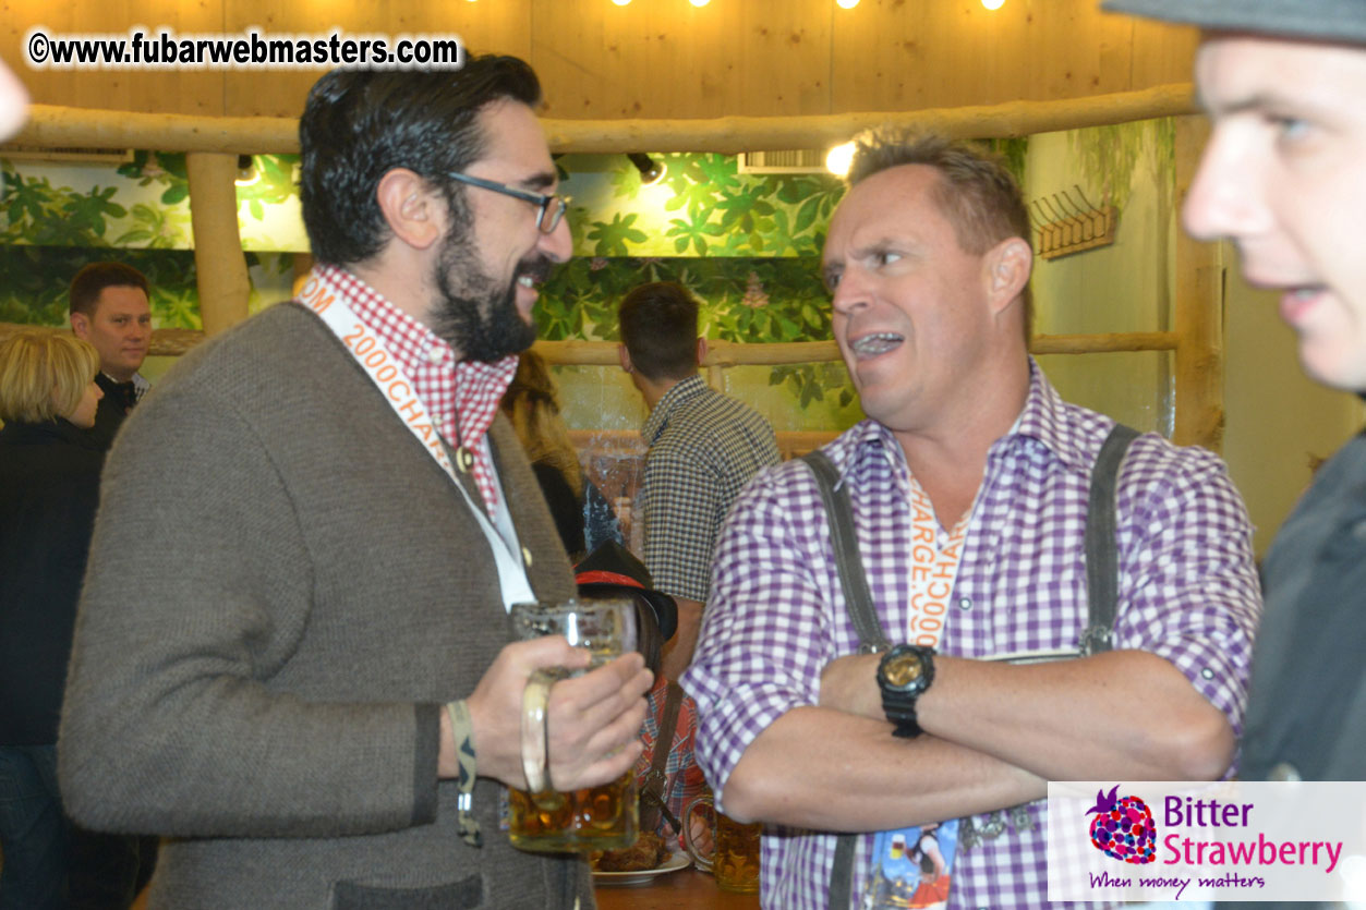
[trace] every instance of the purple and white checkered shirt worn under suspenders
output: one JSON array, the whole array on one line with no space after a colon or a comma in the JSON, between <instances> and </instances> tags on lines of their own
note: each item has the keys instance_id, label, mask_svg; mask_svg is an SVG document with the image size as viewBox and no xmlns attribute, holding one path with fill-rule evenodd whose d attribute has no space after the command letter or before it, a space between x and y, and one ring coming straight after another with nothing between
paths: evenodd
<instances>
[{"instance_id":1,"label":"purple and white checkered shirt worn under suspenders","mask_svg":"<svg viewBox=\"0 0 1366 910\"><path fill-rule=\"evenodd\" d=\"M940 642L945 654L1075 649L1086 624L1090 471L1113 421L1063 402L1033 361L1030 370L1020 419L988 455ZM824 451L850 491L878 616L888 637L902 641L911 564L906 456L874 421ZM1201 448L1141 436L1120 474L1116 521L1113 648L1165 657L1240 731L1261 594L1251 525L1224 463ZM723 808L725 782L750 742L792 708L816 705L821 670L858 645L806 465L761 473L723 532L702 639L682 679L701 715L698 761ZM960 847L951 909L1048 906L1046 803L1029 812L1034 829L1007 828ZM854 906L872 843L872 833L859 838ZM766 829L764 906L825 907L833 855L835 835Z\"/></svg>"}]
</instances>

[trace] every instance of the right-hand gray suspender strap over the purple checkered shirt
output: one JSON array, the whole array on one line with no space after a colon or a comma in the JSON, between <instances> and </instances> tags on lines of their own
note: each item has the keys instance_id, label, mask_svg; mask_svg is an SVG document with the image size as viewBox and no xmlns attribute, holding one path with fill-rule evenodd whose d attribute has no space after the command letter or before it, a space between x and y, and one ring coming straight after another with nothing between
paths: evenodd
<instances>
[{"instance_id":1,"label":"right-hand gray suspender strap over the purple checkered shirt","mask_svg":"<svg viewBox=\"0 0 1366 910\"><path fill-rule=\"evenodd\" d=\"M1115 489L1119 467L1138 430L1116 424L1091 467L1091 493L1086 504L1086 629L1076 642L1083 657L1111 649L1115 608L1119 601L1119 556L1115 540Z\"/></svg>"}]
</instances>

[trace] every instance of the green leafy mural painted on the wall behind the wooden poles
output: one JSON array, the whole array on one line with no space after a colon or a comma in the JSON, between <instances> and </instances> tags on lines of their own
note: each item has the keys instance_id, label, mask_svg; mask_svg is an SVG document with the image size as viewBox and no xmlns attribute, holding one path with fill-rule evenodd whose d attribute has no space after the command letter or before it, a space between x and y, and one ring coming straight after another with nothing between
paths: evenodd
<instances>
[{"instance_id":1,"label":"green leafy mural painted on the wall behind the wooden poles","mask_svg":"<svg viewBox=\"0 0 1366 910\"><path fill-rule=\"evenodd\" d=\"M1157 247L1157 268L1154 262L1135 265L1123 251L1126 215L1120 242L1104 251L1111 265L1102 272L1156 272L1167 268L1164 232L1169 225L1164 219L1171 215L1171 183L1169 175L1153 174L1152 163L1169 146L1171 124L1154 124L1014 139L997 143L997 150L1027 189L1037 183L1046 193L1067 172L1096 195L1126 206L1145 199L1152 212L1141 227L1146 234L1142 251L1146 256ZM1040 154L1042 149L1046 156ZM541 337L615 340L622 295L643 281L672 280L702 301L708 337L746 343L829 339L820 250L843 195L840 180L825 174L746 174L736 157L723 154L652 157L664 165L664 175L649 184L624 154L557 158L561 191L571 197L575 257L542 290ZM238 180L238 219L255 312L288 297L294 254L307 251L307 238L299 217L298 157L261 154L250 165ZM183 154L135 152L119 164L0 160L0 321L64 324L71 275L85 262L111 258L148 273L158 328L199 328ZM1106 312L1098 312L1089 302L1097 299L1094 291L1079 291L1076 281L1112 288L1116 275L1096 273L1100 256L1091 268L1081 268L1085 258L1035 266L1041 331L1156 328L1154 320L1165 318L1169 301L1162 294L1156 302L1106 298ZM1165 288L1167 277L1152 275L1142 284ZM1055 288L1065 297L1061 306L1053 301ZM1128 324L1134 321L1141 325ZM1143 359L1154 357L1161 359ZM1102 359L1071 358L1060 373ZM1053 373L1052 366L1046 369ZM1119 369L1115 381L1128 383L1124 368ZM1085 372L1094 373L1091 366ZM1146 365L1139 373L1158 383L1164 376L1161 368ZM634 392L615 370L571 368L560 370L560 380L571 426L601 428L604 414L616 415L619 429L634 429L643 419L638 404L632 410ZM731 369L725 383L732 394L755 402L779 429L843 429L861 417L841 365ZM1086 391L1097 385L1081 376L1076 384ZM1117 415L1145 428L1161 425L1157 411L1164 395L1169 398L1160 391L1137 404L1126 399L1126 413ZM1135 407L1137 417L1128 413Z\"/></svg>"}]
</instances>

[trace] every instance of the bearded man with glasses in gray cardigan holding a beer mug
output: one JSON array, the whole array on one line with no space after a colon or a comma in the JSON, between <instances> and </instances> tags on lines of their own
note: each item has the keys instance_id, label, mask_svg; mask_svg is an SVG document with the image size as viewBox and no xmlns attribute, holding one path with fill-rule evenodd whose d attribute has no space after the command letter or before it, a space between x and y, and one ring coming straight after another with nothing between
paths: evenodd
<instances>
[{"instance_id":1,"label":"bearded man with glasses in gray cardigan holding a beer mug","mask_svg":"<svg viewBox=\"0 0 1366 910\"><path fill-rule=\"evenodd\" d=\"M512 604L575 596L499 415L571 250L540 98L504 56L324 75L298 299L195 347L120 432L59 775L76 821L169 836L152 909L593 906L582 858L500 825L529 675L590 660L508 644ZM635 653L556 683L548 779L631 768L649 687Z\"/></svg>"}]
</instances>

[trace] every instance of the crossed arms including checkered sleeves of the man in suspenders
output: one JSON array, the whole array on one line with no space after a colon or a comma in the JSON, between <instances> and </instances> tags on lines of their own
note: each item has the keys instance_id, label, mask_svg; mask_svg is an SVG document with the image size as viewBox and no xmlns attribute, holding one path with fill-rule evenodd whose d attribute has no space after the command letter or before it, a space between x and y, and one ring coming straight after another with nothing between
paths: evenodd
<instances>
[{"instance_id":1,"label":"crossed arms including checkered sleeves of the man in suspenders","mask_svg":"<svg viewBox=\"0 0 1366 910\"><path fill-rule=\"evenodd\" d=\"M1221 467L1209 474L1180 482L1242 515ZM1246 536L1190 522L1182 496L1134 532L1143 537L1121 590L1120 650L1027 665L940 656L918 705L925 734L911 741L891 735L877 657L850 656L856 639L829 607L839 582L813 555L824 527L809 530L790 499L759 488L742 496L684 679L703 705L699 757L728 814L870 831L1018 805L1044 797L1048 780L1228 769L1255 571Z\"/></svg>"}]
</instances>

